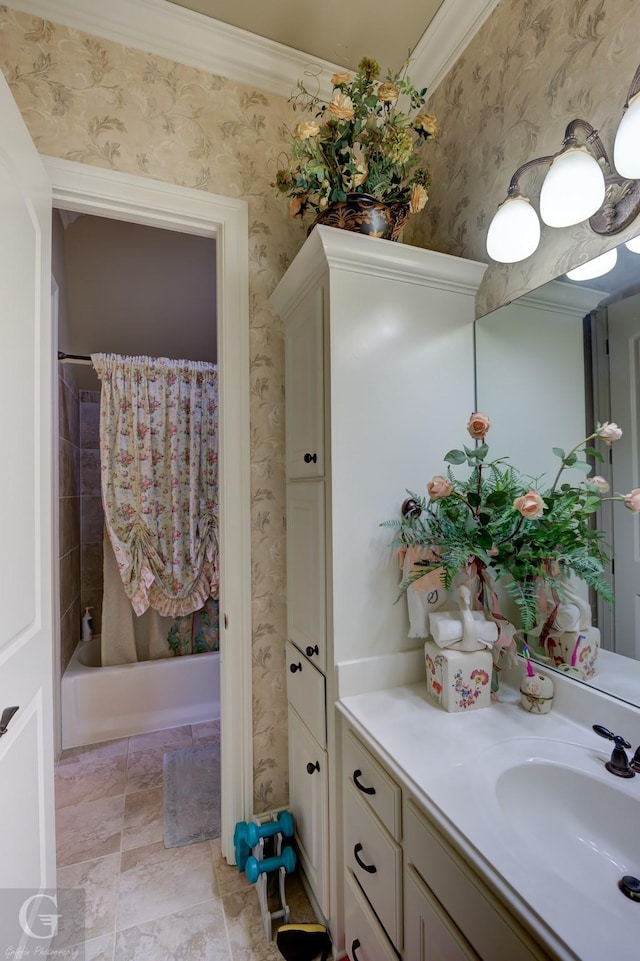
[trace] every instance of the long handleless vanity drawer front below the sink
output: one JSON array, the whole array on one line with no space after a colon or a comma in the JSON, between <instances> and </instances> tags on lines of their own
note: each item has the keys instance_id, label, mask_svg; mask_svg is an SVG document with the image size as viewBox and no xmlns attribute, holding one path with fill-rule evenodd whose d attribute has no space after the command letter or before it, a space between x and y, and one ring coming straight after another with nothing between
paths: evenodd
<instances>
[{"instance_id":1,"label":"long handleless vanity drawer front below the sink","mask_svg":"<svg viewBox=\"0 0 640 961\"><path fill-rule=\"evenodd\" d=\"M484 961L548 961L527 932L440 838L412 801L404 811L407 862L431 889L464 938ZM473 957L473 955L472 955Z\"/></svg>"}]
</instances>

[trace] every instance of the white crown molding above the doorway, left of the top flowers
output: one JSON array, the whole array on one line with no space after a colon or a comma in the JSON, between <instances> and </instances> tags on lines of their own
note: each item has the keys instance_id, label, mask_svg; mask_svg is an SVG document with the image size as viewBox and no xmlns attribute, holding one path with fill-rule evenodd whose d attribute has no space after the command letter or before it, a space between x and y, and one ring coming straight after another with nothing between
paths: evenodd
<instances>
[{"instance_id":1,"label":"white crown molding above the doorway, left of the top flowers","mask_svg":"<svg viewBox=\"0 0 640 961\"><path fill-rule=\"evenodd\" d=\"M331 90L337 64L167 0L11 0L14 10L289 98L305 71Z\"/></svg>"}]
</instances>

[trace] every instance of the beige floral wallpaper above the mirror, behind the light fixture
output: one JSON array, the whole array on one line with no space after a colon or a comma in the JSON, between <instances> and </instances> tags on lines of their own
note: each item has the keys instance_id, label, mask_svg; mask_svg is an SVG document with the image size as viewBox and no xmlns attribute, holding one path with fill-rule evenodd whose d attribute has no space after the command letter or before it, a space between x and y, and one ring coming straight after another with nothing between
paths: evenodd
<instances>
[{"instance_id":1,"label":"beige floral wallpaper above the mirror, behind the light fixture","mask_svg":"<svg viewBox=\"0 0 640 961\"><path fill-rule=\"evenodd\" d=\"M640 60L636 0L502 0L428 102L441 124L430 149L431 198L404 240L485 261L486 234L509 180L526 160L560 149L574 117L596 127L609 155ZM539 196L546 168L528 172ZM602 238L588 227L543 226L537 252L492 264L478 315L614 247L640 229Z\"/></svg>"}]
</instances>

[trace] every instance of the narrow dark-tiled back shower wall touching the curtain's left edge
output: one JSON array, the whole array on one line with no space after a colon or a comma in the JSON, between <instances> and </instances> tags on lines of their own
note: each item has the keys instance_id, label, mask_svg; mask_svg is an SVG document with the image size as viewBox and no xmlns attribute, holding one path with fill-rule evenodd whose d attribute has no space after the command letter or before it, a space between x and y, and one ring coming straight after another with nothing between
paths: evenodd
<instances>
[{"instance_id":1,"label":"narrow dark-tiled back shower wall touching the curtain's left edge","mask_svg":"<svg viewBox=\"0 0 640 961\"><path fill-rule=\"evenodd\" d=\"M100 496L100 391L80 391L80 545L82 612L91 608L93 633L102 619L102 532ZM81 612L81 616L82 616ZM80 630L80 628L78 628ZM79 636L79 635L78 635Z\"/></svg>"}]
</instances>

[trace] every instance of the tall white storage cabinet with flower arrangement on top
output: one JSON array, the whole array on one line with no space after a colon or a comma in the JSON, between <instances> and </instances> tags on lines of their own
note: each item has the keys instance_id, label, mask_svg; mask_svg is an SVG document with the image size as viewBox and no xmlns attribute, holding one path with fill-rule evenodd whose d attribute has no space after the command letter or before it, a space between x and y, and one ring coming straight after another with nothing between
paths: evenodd
<instances>
[{"instance_id":1,"label":"tall white storage cabinet with flower arrangement on top","mask_svg":"<svg viewBox=\"0 0 640 961\"><path fill-rule=\"evenodd\" d=\"M338 950L338 667L419 646L394 605L399 572L380 525L464 439L484 269L316 227L272 296L286 352L289 803Z\"/></svg>"}]
</instances>

